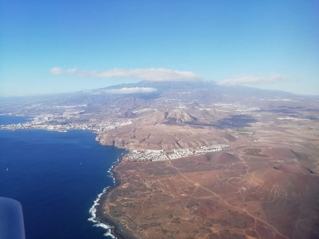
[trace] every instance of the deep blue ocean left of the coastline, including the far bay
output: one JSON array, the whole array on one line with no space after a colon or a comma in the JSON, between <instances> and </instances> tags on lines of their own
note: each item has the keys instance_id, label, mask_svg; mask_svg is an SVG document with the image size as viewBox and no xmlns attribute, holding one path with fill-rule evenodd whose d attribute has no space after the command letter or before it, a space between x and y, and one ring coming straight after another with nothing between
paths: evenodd
<instances>
[{"instance_id":1,"label":"deep blue ocean left of the coastline, including the far bay","mask_svg":"<svg viewBox=\"0 0 319 239\"><path fill-rule=\"evenodd\" d=\"M0 125L27 121L10 117L0 116ZM0 196L21 202L27 239L110 238L87 219L97 195L113 185L107 171L125 151L101 146L95 136L0 130Z\"/></svg>"}]
</instances>

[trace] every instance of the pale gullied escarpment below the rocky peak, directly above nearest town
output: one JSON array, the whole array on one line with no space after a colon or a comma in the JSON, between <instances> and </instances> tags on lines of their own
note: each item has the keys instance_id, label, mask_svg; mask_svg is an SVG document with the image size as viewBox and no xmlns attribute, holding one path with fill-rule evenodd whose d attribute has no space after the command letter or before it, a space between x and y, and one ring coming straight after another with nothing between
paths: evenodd
<instances>
[{"instance_id":1,"label":"pale gullied escarpment below the rocky peak, directly above nearest town","mask_svg":"<svg viewBox=\"0 0 319 239\"><path fill-rule=\"evenodd\" d=\"M212 137L213 135L213 137ZM148 148L172 150L174 148L193 148L234 141L225 133L212 127L181 127L158 124L152 127L121 127L108 130L96 136L103 145L119 148Z\"/></svg>"}]
</instances>

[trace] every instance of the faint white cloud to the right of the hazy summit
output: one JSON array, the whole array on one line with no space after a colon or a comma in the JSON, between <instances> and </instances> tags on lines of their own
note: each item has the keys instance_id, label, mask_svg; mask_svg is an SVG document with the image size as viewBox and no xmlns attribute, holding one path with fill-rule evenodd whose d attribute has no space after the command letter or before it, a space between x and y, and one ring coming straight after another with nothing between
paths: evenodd
<instances>
[{"instance_id":1,"label":"faint white cloud to the right of the hazy summit","mask_svg":"<svg viewBox=\"0 0 319 239\"><path fill-rule=\"evenodd\" d=\"M262 84L262 83L276 83L288 81L286 76L281 74L273 74L271 76L235 76L217 82L219 85L244 85L244 84Z\"/></svg>"}]
</instances>

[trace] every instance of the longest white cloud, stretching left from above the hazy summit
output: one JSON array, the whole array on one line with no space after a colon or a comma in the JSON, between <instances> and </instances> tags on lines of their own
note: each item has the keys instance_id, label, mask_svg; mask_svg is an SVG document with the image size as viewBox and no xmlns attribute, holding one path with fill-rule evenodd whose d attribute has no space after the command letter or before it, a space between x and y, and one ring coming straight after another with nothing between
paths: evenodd
<instances>
[{"instance_id":1,"label":"longest white cloud, stretching left from above the hazy summit","mask_svg":"<svg viewBox=\"0 0 319 239\"><path fill-rule=\"evenodd\" d=\"M202 80L200 75L192 71L171 70L165 68L148 69L121 69L115 68L107 71L77 71L76 68L62 70L54 67L50 70L51 74L74 74L76 76L89 77L132 77L148 81L197 81Z\"/></svg>"}]
</instances>

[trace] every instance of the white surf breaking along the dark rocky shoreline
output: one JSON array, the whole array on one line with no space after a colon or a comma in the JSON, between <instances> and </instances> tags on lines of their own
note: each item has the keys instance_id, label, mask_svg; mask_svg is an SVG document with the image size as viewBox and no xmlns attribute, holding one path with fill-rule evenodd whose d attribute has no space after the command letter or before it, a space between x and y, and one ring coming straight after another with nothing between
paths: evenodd
<instances>
[{"instance_id":1,"label":"white surf breaking along the dark rocky shoreline","mask_svg":"<svg viewBox=\"0 0 319 239\"><path fill-rule=\"evenodd\" d=\"M123 155L123 153L122 153L122 155ZM115 185L115 177L113 177L112 169L117 165L117 163L119 163L119 161L120 161L120 157L117 157L117 160L115 162L113 162L112 166L108 170L108 173L109 173L108 177L111 177L113 179L113 186ZM104 193L106 193L108 191L108 188L110 188L110 186L105 187L103 189L103 191L100 194L98 194L97 198L93 201L93 205L89 210L91 217L88 218L88 221L92 221L94 223L93 226L95 226L95 227L101 227L101 228L107 229L107 232L104 234L105 236L110 236L114 239L117 239L117 237L115 235L113 235L112 231L111 231L111 228L113 228L113 226L102 223L96 217L96 206L100 205L100 198Z\"/></svg>"}]
</instances>

